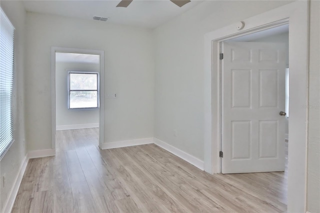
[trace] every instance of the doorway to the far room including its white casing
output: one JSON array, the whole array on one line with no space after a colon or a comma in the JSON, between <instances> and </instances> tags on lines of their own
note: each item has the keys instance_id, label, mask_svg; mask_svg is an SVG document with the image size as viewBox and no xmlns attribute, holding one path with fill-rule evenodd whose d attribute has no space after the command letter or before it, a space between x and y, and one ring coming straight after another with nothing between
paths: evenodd
<instances>
[{"instance_id":1,"label":"doorway to the far room including its white casing","mask_svg":"<svg viewBox=\"0 0 320 213\"><path fill-rule=\"evenodd\" d=\"M79 138L75 136L82 130L86 132L83 137L97 148L101 147L104 140L104 52L52 47L51 91L52 148L56 147L57 130L73 134L73 138Z\"/></svg>"}]
</instances>

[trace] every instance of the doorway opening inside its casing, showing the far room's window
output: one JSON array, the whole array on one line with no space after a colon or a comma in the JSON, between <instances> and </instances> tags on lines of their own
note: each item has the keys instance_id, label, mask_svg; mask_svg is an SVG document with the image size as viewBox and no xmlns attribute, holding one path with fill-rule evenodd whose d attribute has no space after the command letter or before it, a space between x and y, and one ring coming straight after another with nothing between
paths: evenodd
<instances>
[{"instance_id":1,"label":"doorway opening inside its casing, showing the far room's window","mask_svg":"<svg viewBox=\"0 0 320 213\"><path fill-rule=\"evenodd\" d=\"M99 132L99 57L96 54L55 52L57 131L64 130L68 134L73 129L91 128L93 132ZM98 134L90 139L98 146ZM56 138L56 142L59 141Z\"/></svg>"}]
</instances>

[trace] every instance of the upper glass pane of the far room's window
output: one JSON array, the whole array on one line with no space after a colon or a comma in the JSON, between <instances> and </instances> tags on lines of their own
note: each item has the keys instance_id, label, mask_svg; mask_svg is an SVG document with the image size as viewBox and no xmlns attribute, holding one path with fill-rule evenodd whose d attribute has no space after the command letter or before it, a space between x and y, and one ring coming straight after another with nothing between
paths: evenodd
<instances>
[{"instance_id":1,"label":"upper glass pane of the far room's window","mask_svg":"<svg viewBox=\"0 0 320 213\"><path fill-rule=\"evenodd\" d=\"M97 89L97 74L92 73L69 73L70 89Z\"/></svg>"}]
</instances>

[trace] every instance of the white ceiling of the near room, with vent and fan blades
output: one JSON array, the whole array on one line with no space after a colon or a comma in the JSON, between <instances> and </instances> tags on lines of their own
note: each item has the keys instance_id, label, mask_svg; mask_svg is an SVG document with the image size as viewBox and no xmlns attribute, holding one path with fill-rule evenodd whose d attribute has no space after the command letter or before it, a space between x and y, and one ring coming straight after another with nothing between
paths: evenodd
<instances>
[{"instance_id":1,"label":"white ceiling of the near room, with vent and fan blades","mask_svg":"<svg viewBox=\"0 0 320 213\"><path fill-rule=\"evenodd\" d=\"M155 28L196 6L191 0L178 7L169 0L133 0L126 8L116 7L120 0L23 0L26 11L93 20L107 17L106 22ZM96 20L95 20L96 21Z\"/></svg>"}]
</instances>

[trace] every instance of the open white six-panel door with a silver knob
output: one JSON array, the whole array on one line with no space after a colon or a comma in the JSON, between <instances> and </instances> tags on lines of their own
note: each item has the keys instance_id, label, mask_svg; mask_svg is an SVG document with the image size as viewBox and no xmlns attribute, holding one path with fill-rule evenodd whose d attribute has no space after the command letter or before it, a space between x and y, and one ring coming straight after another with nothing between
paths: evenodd
<instances>
[{"instance_id":1,"label":"open white six-panel door with a silver knob","mask_svg":"<svg viewBox=\"0 0 320 213\"><path fill-rule=\"evenodd\" d=\"M222 42L222 173L284 170L282 43Z\"/></svg>"}]
</instances>

